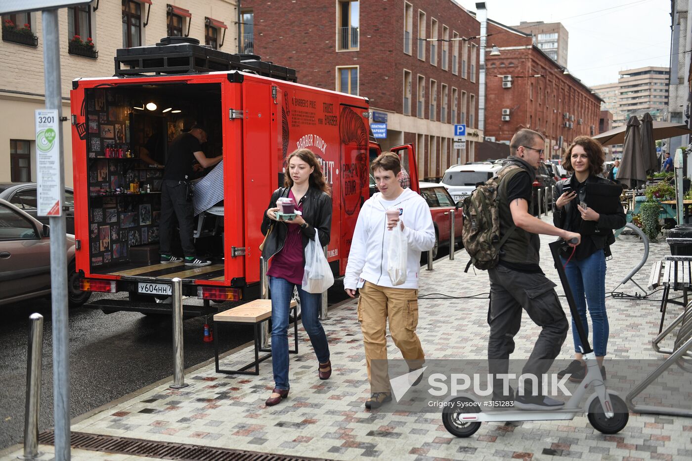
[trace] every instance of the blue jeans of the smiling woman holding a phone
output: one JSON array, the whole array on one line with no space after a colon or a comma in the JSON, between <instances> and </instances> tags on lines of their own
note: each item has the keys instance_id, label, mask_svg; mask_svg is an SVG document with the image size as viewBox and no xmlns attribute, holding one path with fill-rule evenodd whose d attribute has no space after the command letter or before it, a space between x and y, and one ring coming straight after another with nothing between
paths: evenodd
<instances>
[{"instance_id":1,"label":"blue jeans of the smiling woman holding a phone","mask_svg":"<svg viewBox=\"0 0 692 461\"><path fill-rule=\"evenodd\" d=\"M565 258L561 257L565 264ZM581 323L584 325L586 335L589 335L589 324L586 320L586 306L589 306L591 322L594 324L592 347L597 356L605 356L608 348L608 313L605 311L605 255L603 250L597 250L584 260L577 261L572 258L565 267L567 280L570 281L570 289L576 302L576 310L579 311ZM576 332L576 323L572 318L572 338L574 338L574 352L581 353L581 341Z\"/></svg>"}]
</instances>

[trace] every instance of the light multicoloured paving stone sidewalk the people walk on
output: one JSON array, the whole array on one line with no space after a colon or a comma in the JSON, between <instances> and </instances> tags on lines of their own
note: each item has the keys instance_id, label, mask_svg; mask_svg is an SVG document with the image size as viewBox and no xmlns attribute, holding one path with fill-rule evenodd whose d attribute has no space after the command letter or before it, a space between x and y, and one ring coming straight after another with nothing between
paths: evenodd
<instances>
[{"instance_id":1,"label":"light multicoloured paving stone sidewalk the people walk on","mask_svg":"<svg viewBox=\"0 0 692 461\"><path fill-rule=\"evenodd\" d=\"M547 246L552 239L541 238L541 260L549 278L558 280ZM643 246L636 237L623 235L612 250L607 292L632 269ZM646 286L651 264L666 253L665 243L651 245L648 263L635 276L639 284ZM439 260L434 271L421 271L421 296L470 296L489 291L487 273L464 273L466 253L459 251L455 257L454 261ZM631 283L619 290L639 291ZM562 293L561 287L557 291ZM655 299L660 293L657 295L651 300L608 298L608 349L612 357L659 358L650 347L658 331ZM418 333L426 358L484 359L487 306L484 297L421 299ZM563 306L567 309L564 300ZM679 308L671 311L672 318ZM147 390L73 424L72 430L334 460L692 458L692 419L684 417L630 415L629 424L616 435L595 431L585 415L571 421L524 422L518 426L484 423L472 437L458 439L445 430L439 413L370 413L363 406L368 387L356 301L333 309L329 316L324 326L334 374L327 381L318 379L318 363L301 328L300 354L291 354L290 359L291 392L278 406L264 406L273 388L271 359L262 363L259 377L217 374L212 364L188 374L187 388L172 390L165 385ZM513 357L527 358L537 334L538 327L525 315ZM399 358L390 337L388 345L390 358ZM249 361L251 354L248 347L224 359L222 367ZM572 358L571 333L559 358Z\"/></svg>"}]
</instances>

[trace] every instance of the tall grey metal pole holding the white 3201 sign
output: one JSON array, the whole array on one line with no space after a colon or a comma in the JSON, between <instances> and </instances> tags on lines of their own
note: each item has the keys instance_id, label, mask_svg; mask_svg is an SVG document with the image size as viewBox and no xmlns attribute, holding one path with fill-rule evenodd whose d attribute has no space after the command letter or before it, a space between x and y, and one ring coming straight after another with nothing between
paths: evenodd
<instances>
[{"instance_id":1,"label":"tall grey metal pole holding the white 3201 sign","mask_svg":"<svg viewBox=\"0 0 692 461\"><path fill-rule=\"evenodd\" d=\"M60 85L60 30L58 10L42 11L46 109L57 110L60 179L58 190L65 189L64 151L62 146L62 89ZM39 190L40 190L39 183ZM62 204L62 201L61 201ZM67 248L65 215L51 216L51 302L53 305L53 418L55 422L55 459L70 459L70 357L67 325Z\"/></svg>"}]
</instances>

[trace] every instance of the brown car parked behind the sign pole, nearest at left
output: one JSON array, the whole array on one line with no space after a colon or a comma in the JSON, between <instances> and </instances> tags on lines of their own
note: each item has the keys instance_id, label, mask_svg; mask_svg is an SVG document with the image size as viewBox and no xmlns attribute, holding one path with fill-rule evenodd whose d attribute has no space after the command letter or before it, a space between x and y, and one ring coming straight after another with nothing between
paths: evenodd
<instances>
[{"instance_id":1,"label":"brown car parked behind the sign pole, nearest at left","mask_svg":"<svg viewBox=\"0 0 692 461\"><path fill-rule=\"evenodd\" d=\"M50 228L0 199L0 305L51 293ZM75 272L75 237L66 235L67 293L70 306L89 300Z\"/></svg>"}]
</instances>

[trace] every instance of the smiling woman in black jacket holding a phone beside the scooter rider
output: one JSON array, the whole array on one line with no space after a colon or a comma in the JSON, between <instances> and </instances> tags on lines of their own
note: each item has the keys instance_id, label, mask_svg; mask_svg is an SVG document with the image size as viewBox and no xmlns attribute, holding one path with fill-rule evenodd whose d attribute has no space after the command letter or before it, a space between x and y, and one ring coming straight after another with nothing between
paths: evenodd
<instances>
[{"instance_id":1,"label":"smiling woman in black jacket holding a phone beside the scooter rider","mask_svg":"<svg viewBox=\"0 0 692 461\"><path fill-rule=\"evenodd\" d=\"M574 250L565 248L561 254L561 260L565 264L570 289L572 289L579 317L587 334L589 332L586 318L588 307L593 331L592 345L603 379L605 379L603 357L608 347L605 258L610 257L610 244L615 242L612 230L619 229L626 223L621 205L617 213L610 215L597 213L588 206L587 184L614 184L608 179L599 177L599 174L603 172L604 161L603 147L598 141L588 136L577 136L567 149L562 162L565 170L574 174L558 181L553 195L554 225L582 234L581 244L574 247ZM594 222L594 224L587 226L585 222ZM586 231L586 229L590 230ZM558 377L571 374L570 381L581 382L585 376L585 365L574 319L572 319L572 337L574 338L574 360L565 370L558 372Z\"/></svg>"}]
</instances>

